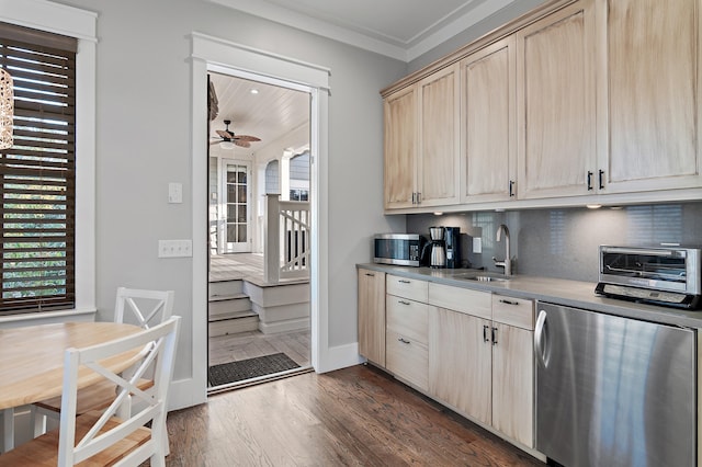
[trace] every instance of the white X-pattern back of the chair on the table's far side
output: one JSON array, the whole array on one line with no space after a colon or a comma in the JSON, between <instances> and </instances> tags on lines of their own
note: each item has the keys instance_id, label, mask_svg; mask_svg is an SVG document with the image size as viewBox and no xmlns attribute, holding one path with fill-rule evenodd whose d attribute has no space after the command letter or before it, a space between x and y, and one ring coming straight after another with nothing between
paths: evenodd
<instances>
[{"instance_id":1,"label":"white X-pattern back of the chair on the table's far side","mask_svg":"<svg viewBox=\"0 0 702 467\"><path fill-rule=\"evenodd\" d=\"M171 317L173 297L173 291L120 287L114 307L114 321L128 322L148 329ZM129 310L132 316L125 317L125 310Z\"/></svg>"}]
</instances>

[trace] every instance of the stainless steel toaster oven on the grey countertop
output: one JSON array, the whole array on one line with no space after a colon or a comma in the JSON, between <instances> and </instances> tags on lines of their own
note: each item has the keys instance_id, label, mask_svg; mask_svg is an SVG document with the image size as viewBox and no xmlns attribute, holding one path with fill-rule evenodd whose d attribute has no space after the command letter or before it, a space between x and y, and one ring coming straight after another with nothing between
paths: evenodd
<instances>
[{"instance_id":1,"label":"stainless steel toaster oven on the grey countertop","mask_svg":"<svg viewBox=\"0 0 702 467\"><path fill-rule=\"evenodd\" d=\"M701 250L683 247L600 247L596 292L657 305L702 305Z\"/></svg>"}]
</instances>

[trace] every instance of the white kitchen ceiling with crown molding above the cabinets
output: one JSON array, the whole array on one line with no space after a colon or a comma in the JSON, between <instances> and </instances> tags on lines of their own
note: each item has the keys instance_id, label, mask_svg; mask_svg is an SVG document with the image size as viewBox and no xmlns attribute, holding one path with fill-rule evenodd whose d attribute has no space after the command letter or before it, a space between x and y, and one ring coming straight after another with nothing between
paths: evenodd
<instances>
[{"instance_id":1,"label":"white kitchen ceiling with crown molding above the cabinets","mask_svg":"<svg viewBox=\"0 0 702 467\"><path fill-rule=\"evenodd\" d=\"M410 61L517 0L208 0Z\"/></svg>"}]
</instances>

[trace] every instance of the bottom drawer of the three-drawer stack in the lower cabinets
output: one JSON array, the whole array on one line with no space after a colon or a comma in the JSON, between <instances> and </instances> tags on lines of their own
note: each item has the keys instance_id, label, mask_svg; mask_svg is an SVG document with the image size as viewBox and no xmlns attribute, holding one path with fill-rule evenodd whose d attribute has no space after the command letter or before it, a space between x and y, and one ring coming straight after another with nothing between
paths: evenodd
<instances>
[{"instance_id":1,"label":"bottom drawer of the three-drawer stack in the lower cabinets","mask_svg":"<svg viewBox=\"0 0 702 467\"><path fill-rule=\"evenodd\" d=\"M419 389L429 389L429 351L426 344L387 331L385 352L387 369Z\"/></svg>"}]
</instances>

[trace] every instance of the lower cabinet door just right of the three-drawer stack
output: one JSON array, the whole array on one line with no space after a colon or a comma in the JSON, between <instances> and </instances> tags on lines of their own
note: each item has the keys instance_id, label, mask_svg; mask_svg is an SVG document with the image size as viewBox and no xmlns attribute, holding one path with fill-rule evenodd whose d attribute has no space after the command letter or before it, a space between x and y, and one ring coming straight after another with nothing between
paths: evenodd
<instances>
[{"instance_id":1,"label":"lower cabinet door just right of the three-drawer stack","mask_svg":"<svg viewBox=\"0 0 702 467\"><path fill-rule=\"evenodd\" d=\"M444 308L429 320L429 394L486 424L491 422L489 324Z\"/></svg>"}]
</instances>

